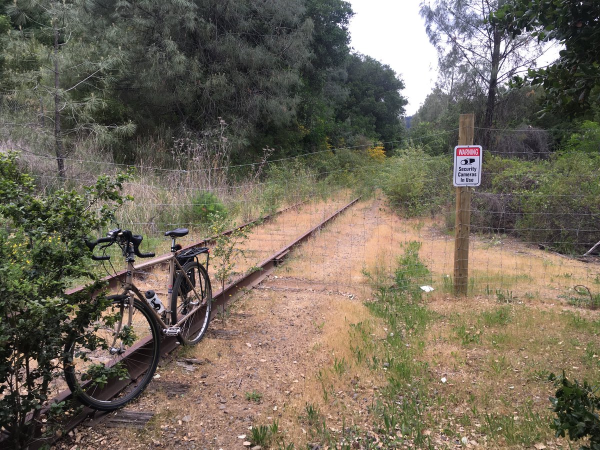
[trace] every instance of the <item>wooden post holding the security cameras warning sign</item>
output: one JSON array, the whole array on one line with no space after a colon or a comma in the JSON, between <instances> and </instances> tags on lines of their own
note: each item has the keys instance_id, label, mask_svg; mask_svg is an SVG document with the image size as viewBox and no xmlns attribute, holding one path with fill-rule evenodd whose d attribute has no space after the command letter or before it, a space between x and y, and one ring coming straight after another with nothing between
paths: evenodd
<instances>
[{"instance_id":1,"label":"wooden post holding the security cameras warning sign","mask_svg":"<svg viewBox=\"0 0 600 450\"><path fill-rule=\"evenodd\" d=\"M458 145L473 145L475 114L461 114ZM469 229L471 188L456 188L456 229L454 241L454 293L467 295L469 289Z\"/></svg>"}]
</instances>

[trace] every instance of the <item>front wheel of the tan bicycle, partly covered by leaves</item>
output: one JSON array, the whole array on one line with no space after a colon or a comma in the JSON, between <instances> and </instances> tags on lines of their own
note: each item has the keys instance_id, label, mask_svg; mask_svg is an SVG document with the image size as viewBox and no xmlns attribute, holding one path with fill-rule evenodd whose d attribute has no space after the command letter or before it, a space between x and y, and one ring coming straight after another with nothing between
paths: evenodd
<instances>
[{"instance_id":1,"label":"front wheel of the tan bicycle, partly covered by leaves","mask_svg":"<svg viewBox=\"0 0 600 450\"><path fill-rule=\"evenodd\" d=\"M160 359L160 329L148 307L134 299L132 325L124 328L129 296L107 299L110 304L101 319L67 343L64 357L71 392L81 403L101 411L119 409L142 394Z\"/></svg>"}]
</instances>

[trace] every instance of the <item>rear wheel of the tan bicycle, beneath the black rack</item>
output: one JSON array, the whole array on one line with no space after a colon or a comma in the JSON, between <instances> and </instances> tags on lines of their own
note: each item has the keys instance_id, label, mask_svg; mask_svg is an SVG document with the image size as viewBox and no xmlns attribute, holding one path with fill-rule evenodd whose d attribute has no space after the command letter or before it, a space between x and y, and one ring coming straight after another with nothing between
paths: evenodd
<instances>
[{"instance_id":1,"label":"rear wheel of the tan bicycle, beneath the black rack","mask_svg":"<svg viewBox=\"0 0 600 450\"><path fill-rule=\"evenodd\" d=\"M188 275L187 278L184 274ZM200 300L197 299L194 290L200 295ZM179 322L185 314L196 307L197 302L200 302L201 306L196 313L178 325L181 328L178 334L179 341L185 345L198 343L206 334L211 319L212 303L211 280L206 269L197 261L190 261L184 264L183 270L173 281L172 322L174 324Z\"/></svg>"}]
</instances>

